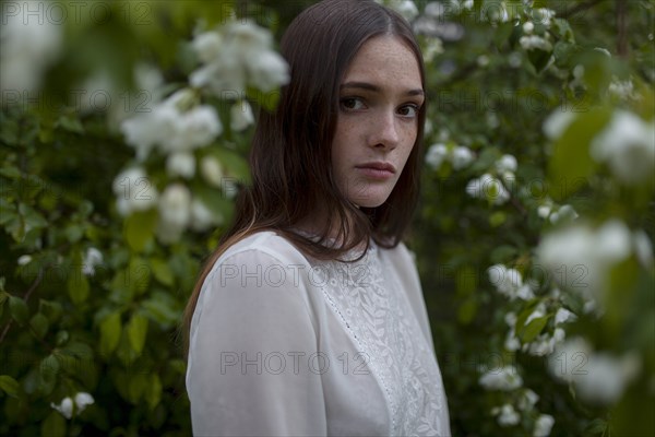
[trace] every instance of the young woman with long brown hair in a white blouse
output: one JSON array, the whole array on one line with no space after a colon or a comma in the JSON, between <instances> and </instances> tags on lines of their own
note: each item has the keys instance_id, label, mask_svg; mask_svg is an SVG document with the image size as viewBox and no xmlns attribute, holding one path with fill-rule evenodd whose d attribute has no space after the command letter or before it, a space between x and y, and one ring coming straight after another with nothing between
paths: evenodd
<instances>
[{"instance_id":1,"label":"young woman with long brown hair in a white blouse","mask_svg":"<svg viewBox=\"0 0 655 437\"><path fill-rule=\"evenodd\" d=\"M287 29L252 186L188 306L196 435L448 436L416 267L401 241L426 114L407 23L324 0Z\"/></svg>"}]
</instances>

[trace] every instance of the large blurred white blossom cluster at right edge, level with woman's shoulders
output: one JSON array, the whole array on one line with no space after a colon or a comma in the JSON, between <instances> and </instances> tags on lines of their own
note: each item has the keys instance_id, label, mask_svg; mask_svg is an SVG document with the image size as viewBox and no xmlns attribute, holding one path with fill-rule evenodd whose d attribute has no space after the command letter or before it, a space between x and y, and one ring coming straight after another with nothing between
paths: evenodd
<instances>
[{"instance_id":1,"label":"large blurred white blossom cluster at right edge, level with woman's shoulders","mask_svg":"<svg viewBox=\"0 0 655 437\"><path fill-rule=\"evenodd\" d=\"M618 220L609 220L598 228L577 223L555 231L544 236L537 247L538 259L553 272L560 285L592 303L602 299L611 268L631 255L642 264L651 265L651 240L643 232L631 233ZM568 274L561 274L562 271Z\"/></svg>"}]
</instances>

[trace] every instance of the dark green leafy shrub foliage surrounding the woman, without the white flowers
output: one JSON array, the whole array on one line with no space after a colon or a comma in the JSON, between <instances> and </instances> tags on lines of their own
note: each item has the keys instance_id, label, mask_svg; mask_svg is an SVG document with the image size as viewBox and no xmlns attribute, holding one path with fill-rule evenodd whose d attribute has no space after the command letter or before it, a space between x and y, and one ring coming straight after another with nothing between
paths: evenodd
<instances>
[{"instance_id":1,"label":"dark green leafy shrub foliage surrounding the woman, without the white flowers","mask_svg":"<svg viewBox=\"0 0 655 437\"><path fill-rule=\"evenodd\" d=\"M3 104L0 434L190 434L179 322L202 260L215 248L233 203L205 192L226 218L223 225L188 232L172 245L157 243L156 216L146 212L126 220L116 211L111 185L134 161L133 150L108 127L107 114L79 111L62 98L62 90L103 70L119 90L134 92L130 72L138 60L147 60L162 70L172 91L198 64L188 43L199 19L207 28L221 25L234 7L238 16L251 17L279 40L290 20L311 3L106 3L112 12L107 21L83 14L83 20L66 23L64 52L48 70L40 101ZM486 273L489 265L504 263L528 275L536 263L535 247L553 227L537 215L546 197L573 205L593 223L619 217L654 239L653 179L638 188L621 187L607 168L592 162L587 150L615 108L653 119L655 3L628 1L621 9L609 0L535 1L535 8L553 9L559 17L550 29L535 29L550 33L550 50L521 48L521 25L515 22L525 22L531 13L523 2L505 1L515 16L504 23L485 15L497 3L475 1L473 12L451 10L443 23L461 25L464 34L444 38L443 52L427 62L431 130L426 146L464 145L476 160L464 169L449 163L438 169L426 165L421 205L408 241L417 253L453 434L532 435L534 414L501 428L490 410L505 402L507 394L478 385L479 367L501 354L523 369L525 386L540 397L538 410L555 417L552 435L655 435L650 415L655 410L652 265L628 262L612 271L608 293L618 296L610 302L619 304L608 307L607 317L581 317L572 328L599 349L642 353L641 379L614 406L580 402L570 387L553 382L543 359L503 350L503 315L509 308L529 312L535 303L508 303ZM425 1L417 4L420 11L426 7ZM618 16L629 26L623 39ZM427 47L429 38L421 38ZM628 48L621 49L624 52L618 54L619 43ZM548 66L551 56L555 68ZM584 86L575 84L579 64L585 67ZM612 76L631 79L641 98L608 96ZM250 97L254 106L262 103L255 94ZM229 105L209 103L229 126ZM562 105L583 121L552 144L541 127ZM251 130L227 130L206 153L219 156L230 177L247 180L250 134ZM503 154L519 162L511 201L495 205L468 197L467 182ZM163 161L148 162L156 185L166 181L163 167ZM522 190L525 187L529 189ZM90 247L104 255L92 276L82 273ZM24 255L32 261L19 265ZM547 281L539 280L546 290ZM569 307L580 312L575 305ZM95 404L73 420L50 406L80 391L92 393Z\"/></svg>"}]
</instances>

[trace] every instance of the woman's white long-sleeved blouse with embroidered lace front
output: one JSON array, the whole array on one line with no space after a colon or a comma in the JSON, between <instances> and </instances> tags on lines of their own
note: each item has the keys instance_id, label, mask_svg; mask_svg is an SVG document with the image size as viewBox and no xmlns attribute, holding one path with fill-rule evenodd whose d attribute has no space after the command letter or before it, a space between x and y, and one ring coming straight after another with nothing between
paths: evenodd
<instances>
[{"instance_id":1,"label":"woman's white long-sleeved blouse with embroidered lace front","mask_svg":"<svg viewBox=\"0 0 655 437\"><path fill-rule=\"evenodd\" d=\"M206 276L187 368L196 436L450 436L415 263L371 243L355 263L273 232Z\"/></svg>"}]
</instances>

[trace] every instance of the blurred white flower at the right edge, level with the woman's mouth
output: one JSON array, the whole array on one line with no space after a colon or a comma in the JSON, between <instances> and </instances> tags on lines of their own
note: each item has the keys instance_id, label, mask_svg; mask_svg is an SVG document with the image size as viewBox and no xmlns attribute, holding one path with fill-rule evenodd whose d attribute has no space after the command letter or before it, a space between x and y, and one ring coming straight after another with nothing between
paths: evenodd
<instances>
[{"instance_id":1,"label":"blurred white flower at the right edge, level with the woman's mouth","mask_svg":"<svg viewBox=\"0 0 655 437\"><path fill-rule=\"evenodd\" d=\"M645 122L626 110L615 111L609 125L594 139L591 149L597 162L627 185L653 178L655 170L655 122Z\"/></svg>"}]
</instances>

